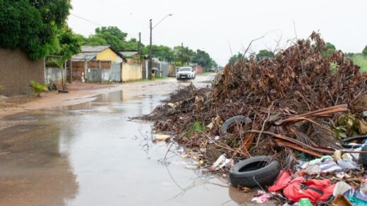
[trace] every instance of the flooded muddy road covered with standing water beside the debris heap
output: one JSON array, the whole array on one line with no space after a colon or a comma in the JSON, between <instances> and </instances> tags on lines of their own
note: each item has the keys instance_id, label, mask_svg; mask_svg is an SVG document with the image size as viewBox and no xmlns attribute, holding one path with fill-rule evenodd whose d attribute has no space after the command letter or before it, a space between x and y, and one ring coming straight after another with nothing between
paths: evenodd
<instances>
[{"instance_id":1,"label":"flooded muddy road covered with standing water beside the debris heap","mask_svg":"<svg viewBox=\"0 0 367 206\"><path fill-rule=\"evenodd\" d=\"M152 123L129 121L178 85L146 83L0 119L0 205L251 205L225 178L187 169L189 159L172 153L162 164L167 145L152 143Z\"/></svg>"}]
</instances>

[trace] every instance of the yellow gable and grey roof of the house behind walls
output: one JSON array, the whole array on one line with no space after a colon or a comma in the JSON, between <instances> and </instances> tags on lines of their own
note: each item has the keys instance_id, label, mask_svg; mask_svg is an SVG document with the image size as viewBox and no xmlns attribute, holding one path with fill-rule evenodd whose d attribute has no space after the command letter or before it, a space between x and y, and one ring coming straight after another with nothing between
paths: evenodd
<instances>
[{"instance_id":1,"label":"yellow gable and grey roof of the house behind walls","mask_svg":"<svg viewBox=\"0 0 367 206\"><path fill-rule=\"evenodd\" d=\"M81 52L72 57L73 61L112 61L121 63L123 61L122 55L116 52L109 45L103 46L82 46Z\"/></svg>"}]
</instances>

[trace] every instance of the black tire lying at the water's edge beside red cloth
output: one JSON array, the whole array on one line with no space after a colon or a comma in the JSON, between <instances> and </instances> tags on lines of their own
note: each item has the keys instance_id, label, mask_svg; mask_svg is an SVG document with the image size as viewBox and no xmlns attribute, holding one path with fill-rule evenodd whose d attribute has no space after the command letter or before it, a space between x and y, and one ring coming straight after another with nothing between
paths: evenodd
<instances>
[{"instance_id":1,"label":"black tire lying at the water's edge beside red cloth","mask_svg":"<svg viewBox=\"0 0 367 206\"><path fill-rule=\"evenodd\" d=\"M279 175L280 164L270 156L258 156L234 164L229 171L229 181L234 187L257 188L272 185Z\"/></svg>"}]
</instances>

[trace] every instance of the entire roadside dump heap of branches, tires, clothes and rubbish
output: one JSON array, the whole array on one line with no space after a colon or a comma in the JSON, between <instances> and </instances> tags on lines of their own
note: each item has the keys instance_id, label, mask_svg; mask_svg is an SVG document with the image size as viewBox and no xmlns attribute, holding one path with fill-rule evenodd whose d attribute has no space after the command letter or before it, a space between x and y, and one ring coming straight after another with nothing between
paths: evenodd
<instances>
[{"instance_id":1,"label":"entire roadside dump heap of branches, tires, clothes and rubbish","mask_svg":"<svg viewBox=\"0 0 367 206\"><path fill-rule=\"evenodd\" d=\"M313 32L274 58L227 65L212 87L179 88L140 119L155 121L155 130L171 133L210 171L229 171L233 186L262 188L277 179L256 201L367 202L359 190L367 177L366 80L341 51L327 56ZM339 190L340 182L350 188Z\"/></svg>"}]
</instances>

